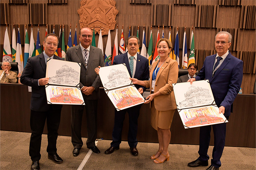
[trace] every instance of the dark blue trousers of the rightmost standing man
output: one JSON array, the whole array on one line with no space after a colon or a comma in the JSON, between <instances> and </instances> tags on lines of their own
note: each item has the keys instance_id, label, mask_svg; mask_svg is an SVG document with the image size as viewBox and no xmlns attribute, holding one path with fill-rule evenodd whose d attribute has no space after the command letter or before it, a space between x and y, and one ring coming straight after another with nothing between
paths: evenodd
<instances>
[{"instance_id":1,"label":"dark blue trousers of the rightmost standing man","mask_svg":"<svg viewBox=\"0 0 256 170\"><path fill-rule=\"evenodd\" d=\"M228 116L226 117L228 120ZM212 150L212 159L211 164L219 168L221 166L220 158L225 146L225 138L226 138L226 124L213 124L212 126L203 126L200 127L200 139L199 139L199 155L198 160L207 161L209 160L209 156L207 154L209 143L211 139L211 127L213 129L214 134L214 147Z\"/></svg>"}]
</instances>

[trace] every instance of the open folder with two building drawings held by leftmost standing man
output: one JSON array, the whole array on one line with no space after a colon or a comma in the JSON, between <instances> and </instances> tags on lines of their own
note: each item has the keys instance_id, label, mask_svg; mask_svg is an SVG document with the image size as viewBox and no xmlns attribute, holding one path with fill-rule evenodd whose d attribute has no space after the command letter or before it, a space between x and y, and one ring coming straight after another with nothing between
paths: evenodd
<instances>
[{"instance_id":1,"label":"open folder with two building drawings held by leftmost standing man","mask_svg":"<svg viewBox=\"0 0 256 170\"><path fill-rule=\"evenodd\" d=\"M80 83L80 63L48 59L45 86L48 104L84 105Z\"/></svg>"}]
</instances>

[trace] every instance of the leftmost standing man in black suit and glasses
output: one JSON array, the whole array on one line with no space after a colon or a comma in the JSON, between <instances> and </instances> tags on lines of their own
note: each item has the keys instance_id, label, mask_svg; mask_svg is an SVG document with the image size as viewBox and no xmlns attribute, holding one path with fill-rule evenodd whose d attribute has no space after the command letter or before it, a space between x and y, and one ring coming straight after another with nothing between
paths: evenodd
<instances>
[{"instance_id":1,"label":"leftmost standing man in black suit and glasses","mask_svg":"<svg viewBox=\"0 0 256 170\"><path fill-rule=\"evenodd\" d=\"M29 144L29 156L31 157L31 169L40 169L39 160L41 158L40 148L41 139L44 130L45 120L47 123L48 138L48 159L52 159L55 163L62 163L63 160L57 154L56 141L58 137L58 128L61 120L61 104L47 104L45 85L49 78L46 74L47 58L64 60L54 55L58 46L58 37L53 34L47 34L43 42L45 50L38 56L28 58L26 67L24 68L20 82L32 87L31 103L30 103L30 127L31 138Z\"/></svg>"}]
</instances>

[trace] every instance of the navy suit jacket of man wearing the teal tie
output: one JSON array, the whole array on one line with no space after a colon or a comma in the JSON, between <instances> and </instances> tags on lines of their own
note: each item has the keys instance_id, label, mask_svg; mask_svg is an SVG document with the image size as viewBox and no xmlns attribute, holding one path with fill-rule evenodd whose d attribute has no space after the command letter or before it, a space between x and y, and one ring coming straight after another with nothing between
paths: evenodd
<instances>
[{"instance_id":1,"label":"navy suit jacket of man wearing the teal tie","mask_svg":"<svg viewBox=\"0 0 256 170\"><path fill-rule=\"evenodd\" d=\"M130 74L130 77L132 77L127 53L128 52L115 56L113 65L125 63L128 69L128 72ZM137 54L137 62L136 62L136 70L135 70L134 78L138 80L148 80L149 78L148 59L141 56L140 54ZM143 88L143 91L146 90L146 87L140 86L138 84L135 84L135 87L137 89Z\"/></svg>"}]
</instances>

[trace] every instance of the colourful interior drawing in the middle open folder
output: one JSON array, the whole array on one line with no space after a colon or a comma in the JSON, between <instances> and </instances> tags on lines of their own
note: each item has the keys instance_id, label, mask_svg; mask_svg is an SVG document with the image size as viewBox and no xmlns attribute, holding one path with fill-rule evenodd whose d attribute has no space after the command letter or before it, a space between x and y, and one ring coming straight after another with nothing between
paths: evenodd
<instances>
[{"instance_id":1,"label":"colourful interior drawing in the middle open folder","mask_svg":"<svg viewBox=\"0 0 256 170\"><path fill-rule=\"evenodd\" d=\"M127 87L113 90L110 93L110 97L112 102L116 105L118 109L130 107L139 103L144 103L144 99L138 97L135 87Z\"/></svg>"}]
</instances>

